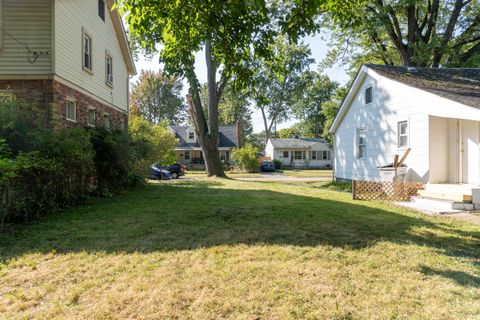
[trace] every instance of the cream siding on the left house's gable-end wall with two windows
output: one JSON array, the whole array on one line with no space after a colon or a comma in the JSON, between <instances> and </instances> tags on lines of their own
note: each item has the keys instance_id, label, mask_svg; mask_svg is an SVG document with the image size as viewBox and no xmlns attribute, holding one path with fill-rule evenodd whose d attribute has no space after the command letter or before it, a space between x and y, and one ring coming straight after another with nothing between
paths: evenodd
<instances>
[{"instance_id":1,"label":"cream siding on the left house's gable-end wall with two windows","mask_svg":"<svg viewBox=\"0 0 480 320\"><path fill-rule=\"evenodd\" d=\"M97 0L55 2L55 73L104 103L128 110L128 71L109 10L105 22ZM83 70L82 35L92 38L92 73ZM106 52L113 58L113 88L106 84Z\"/></svg>"}]
</instances>

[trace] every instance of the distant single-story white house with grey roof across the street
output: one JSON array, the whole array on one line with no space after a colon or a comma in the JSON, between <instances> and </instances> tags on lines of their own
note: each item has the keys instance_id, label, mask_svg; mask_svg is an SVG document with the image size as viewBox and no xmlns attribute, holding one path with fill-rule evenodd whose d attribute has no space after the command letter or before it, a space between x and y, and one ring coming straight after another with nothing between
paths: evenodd
<instances>
[{"instance_id":1,"label":"distant single-story white house with grey roof across the street","mask_svg":"<svg viewBox=\"0 0 480 320\"><path fill-rule=\"evenodd\" d=\"M331 168L332 153L324 139L269 139L265 155L280 160L285 166L299 168Z\"/></svg>"}]
</instances>

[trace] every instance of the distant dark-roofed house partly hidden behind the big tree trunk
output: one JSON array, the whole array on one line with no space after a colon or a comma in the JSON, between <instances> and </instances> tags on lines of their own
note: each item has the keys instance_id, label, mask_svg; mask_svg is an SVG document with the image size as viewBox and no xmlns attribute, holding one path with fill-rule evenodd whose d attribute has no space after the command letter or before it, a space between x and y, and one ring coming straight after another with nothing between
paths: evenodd
<instances>
[{"instance_id":1,"label":"distant dark-roofed house partly hidden behind the big tree trunk","mask_svg":"<svg viewBox=\"0 0 480 320\"><path fill-rule=\"evenodd\" d=\"M169 126L179 140L175 153L177 161L186 165L197 165L204 167L202 147L198 143L195 130L192 126ZM240 127L237 125L228 125L219 127L218 150L220 160L231 163L232 149L240 146Z\"/></svg>"}]
</instances>

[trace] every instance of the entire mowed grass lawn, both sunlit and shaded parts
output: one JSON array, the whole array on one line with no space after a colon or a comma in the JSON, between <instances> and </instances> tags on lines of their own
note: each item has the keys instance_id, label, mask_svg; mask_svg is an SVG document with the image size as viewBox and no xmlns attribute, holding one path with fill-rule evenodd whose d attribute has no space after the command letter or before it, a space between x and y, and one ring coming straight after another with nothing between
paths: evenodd
<instances>
[{"instance_id":1,"label":"entire mowed grass lawn, both sunlit and shaded parts","mask_svg":"<svg viewBox=\"0 0 480 320\"><path fill-rule=\"evenodd\" d=\"M480 228L317 184L159 182L0 235L5 319L479 319Z\"/></svg>"}]
</instances>

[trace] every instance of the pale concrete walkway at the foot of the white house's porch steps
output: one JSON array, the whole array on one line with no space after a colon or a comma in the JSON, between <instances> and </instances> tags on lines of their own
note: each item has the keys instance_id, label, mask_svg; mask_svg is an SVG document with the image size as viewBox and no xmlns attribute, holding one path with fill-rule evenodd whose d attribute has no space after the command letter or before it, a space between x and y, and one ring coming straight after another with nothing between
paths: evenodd
<instances>
[{"instance_id":1,"label":"pale concrete walkway at the foot of the white house's porch steps","mask_svg":"<svg viewBox=\"0 0 480 320\"><path fill-rule=\"evenodd\" d=\"M430 216L444 216L457 220L466 221L472 224L480 225L480 215L473 215L467 211L452 209L451 202L430 200L430 199L413 199L410 202L394 202L395 205L413 209Z\"/></svg>"}]
</instances>

